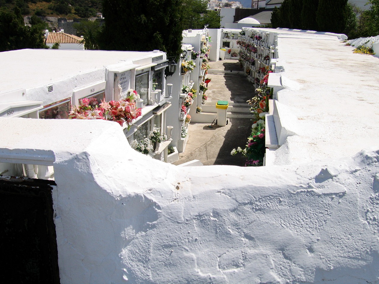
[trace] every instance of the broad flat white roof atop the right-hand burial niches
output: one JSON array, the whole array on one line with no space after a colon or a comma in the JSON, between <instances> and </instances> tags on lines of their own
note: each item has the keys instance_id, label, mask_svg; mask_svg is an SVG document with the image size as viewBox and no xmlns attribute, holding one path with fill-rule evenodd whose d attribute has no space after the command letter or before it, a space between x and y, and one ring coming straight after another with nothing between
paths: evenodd
<instances>
[{"instance_id":1,"label":"broad flat white roof atop the right-hand burial niches","mask_svg":"<svg viewBox=\"0 0 379 284\"><path fill-rule=\"evenodd\" d=\"M278 66L285 89L278 101L296 117L296 135L271 164L299 164L379 148L379 58L354 54L335 36L278 31ZM285 114L287 115L287 113ZM283 117L285 119L285 117Z\"/></svg>"}]
</instances>

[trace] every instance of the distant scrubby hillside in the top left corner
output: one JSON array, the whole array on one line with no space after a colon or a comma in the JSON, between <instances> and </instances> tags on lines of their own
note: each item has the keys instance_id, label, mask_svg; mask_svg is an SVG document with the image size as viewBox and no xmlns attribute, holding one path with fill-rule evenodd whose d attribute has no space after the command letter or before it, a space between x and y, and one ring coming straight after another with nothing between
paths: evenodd
<instances>
[{"instance_id":1,"label":"distant scrubby hillside in the top left corner","mask_svg":"<svg viewBox=\"0 0 379 284\"><path fill-rule=\"evenodd\" d=\"M90 18L102 11L101 0L0 0L0 8L18 7L23 16Z\"/></svg>"}]
</instances>

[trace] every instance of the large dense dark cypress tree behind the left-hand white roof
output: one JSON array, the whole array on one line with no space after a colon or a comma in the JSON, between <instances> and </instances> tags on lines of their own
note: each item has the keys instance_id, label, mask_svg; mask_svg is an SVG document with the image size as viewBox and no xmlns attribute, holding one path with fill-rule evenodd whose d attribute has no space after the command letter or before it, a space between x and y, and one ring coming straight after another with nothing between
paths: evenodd
<instances>
[{"instance_id":1,"label":"large dense dark cypress tree behind the left-hand white roof","mask_svg":"<svg viewBox=\"0 0 379 284\"><path fill-rule=\"evenodd\" d=\"M167 52L168 56L177 56L182 46L181 9L182 0L104 0L105 24L100 48L159 49Z\"/></svg>"}]
</instances>

